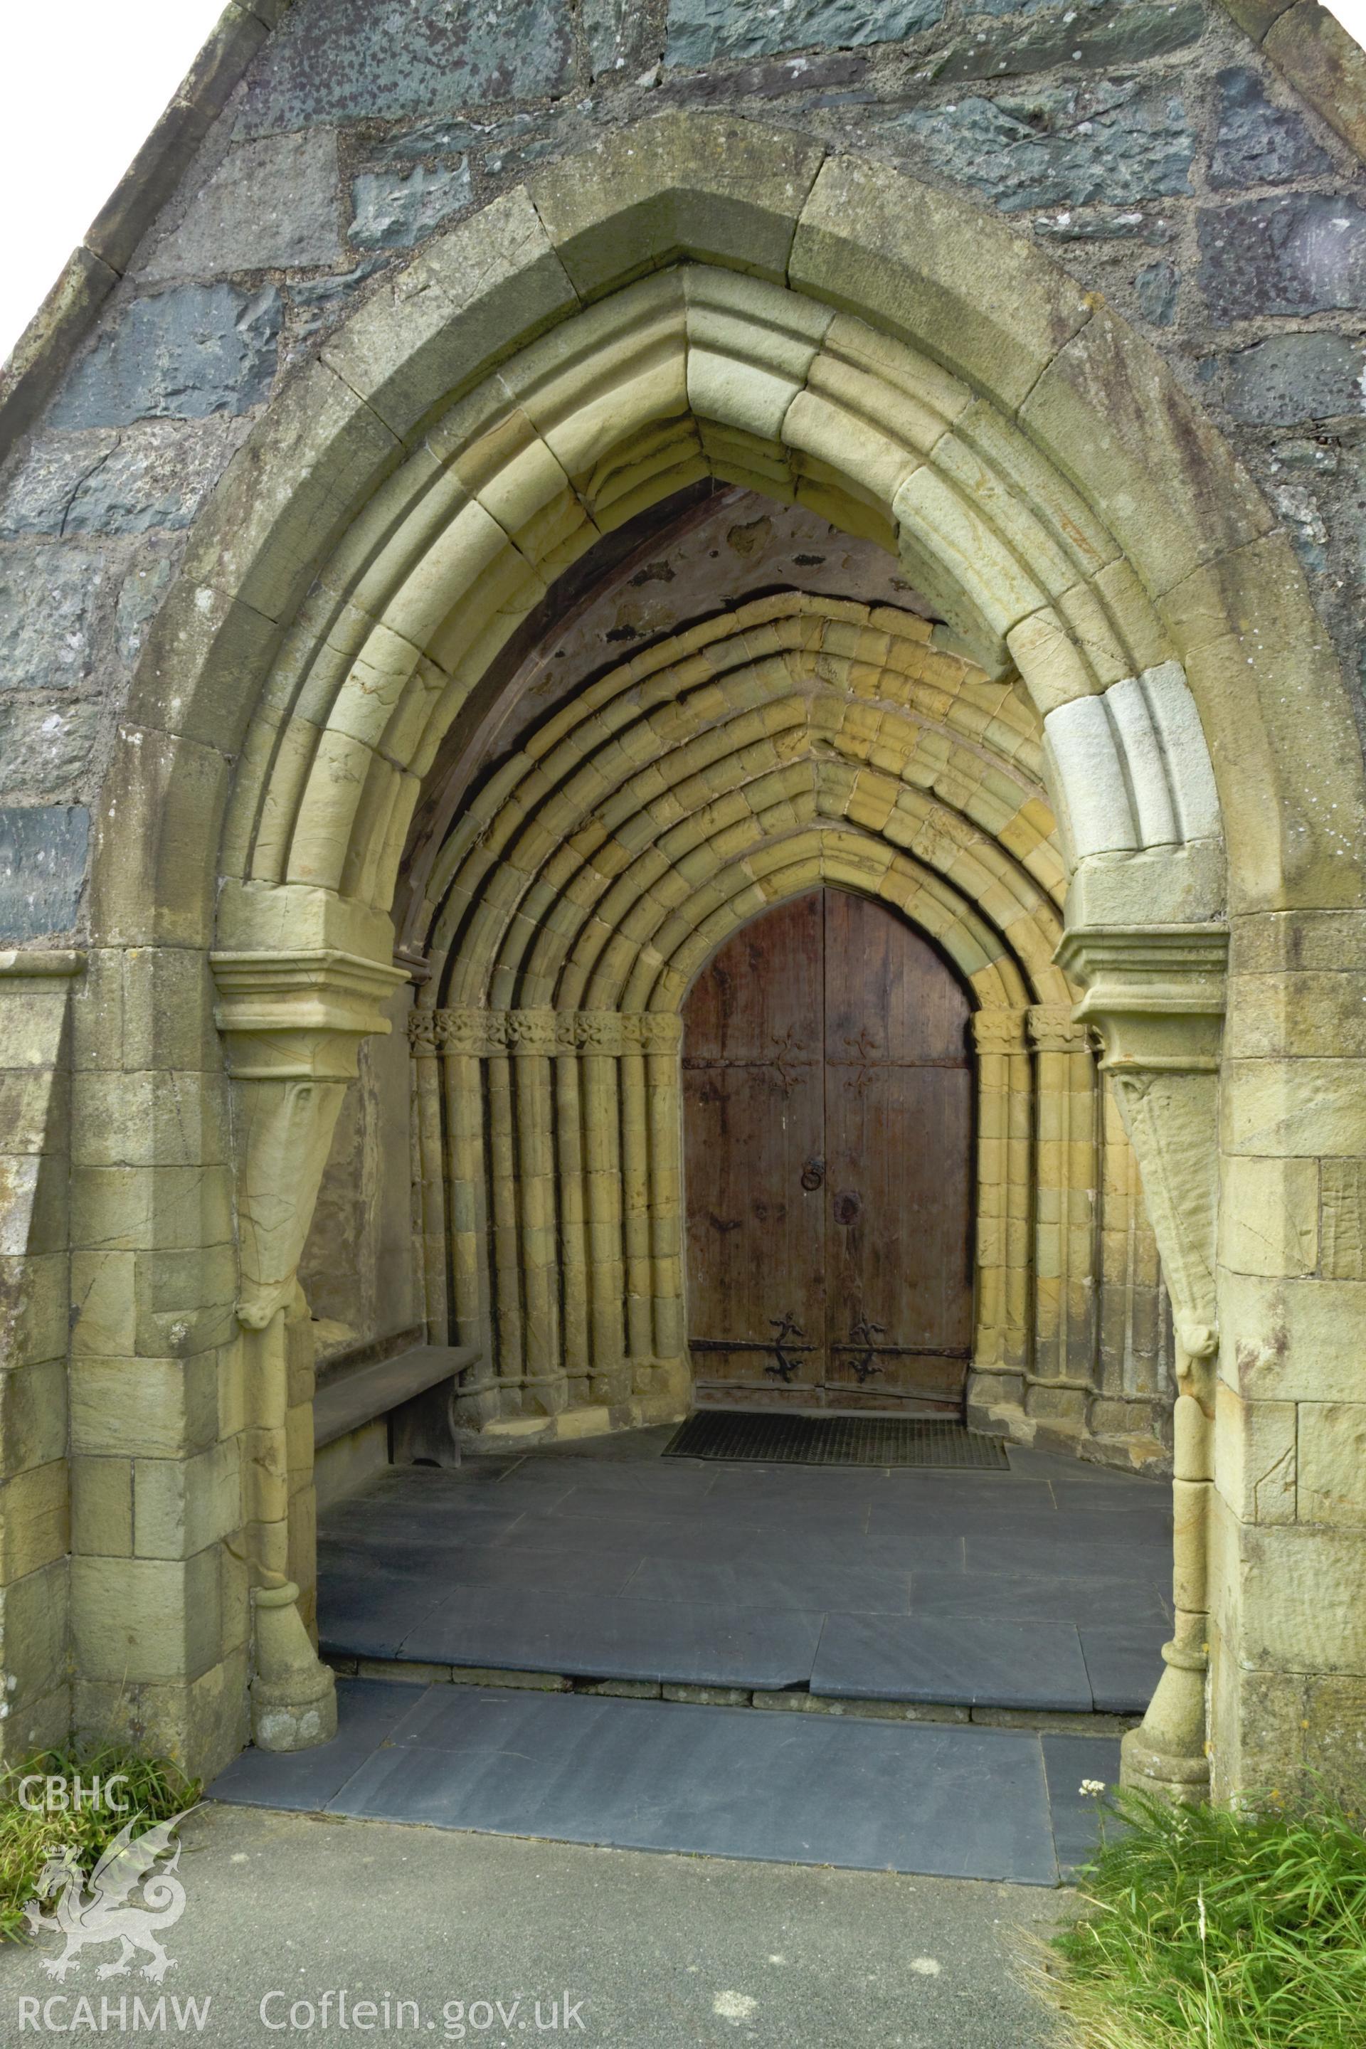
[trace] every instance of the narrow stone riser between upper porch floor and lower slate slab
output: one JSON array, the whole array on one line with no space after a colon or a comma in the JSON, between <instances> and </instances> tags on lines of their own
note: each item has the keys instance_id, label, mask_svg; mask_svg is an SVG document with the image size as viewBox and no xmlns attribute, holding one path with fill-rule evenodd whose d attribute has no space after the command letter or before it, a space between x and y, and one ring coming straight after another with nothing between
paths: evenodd
<instances>
[{"instance_id":1,"label":"narrow stone riser between upper porch floor and lower slate slab","mask_svg":"<svg viewBox=\"0 0 1366 2049\"><path fill-rule=\"evenodd\" d=\"M987 1729L1040 1729L1067 1736L1122 1736L1141 1715L1073 1713L1051 1707L973 1707L940 1701L854 1701L807 1686L764 1692L754 1686L684 1686L672 1680L584 1678L567 1672L506 1672L496 1666L416 1664L403 1658L326 1658L338 1678L379 1678L395 1686L512 1686L528 1692L586 1692L618 1701L676 1701L688 1707L758 1707L797 1715L848 1715L860 1721L950 1721Z\"/></svg>"}]
</instances>

